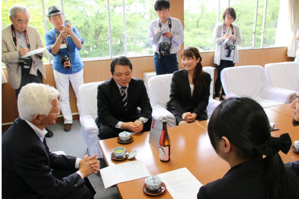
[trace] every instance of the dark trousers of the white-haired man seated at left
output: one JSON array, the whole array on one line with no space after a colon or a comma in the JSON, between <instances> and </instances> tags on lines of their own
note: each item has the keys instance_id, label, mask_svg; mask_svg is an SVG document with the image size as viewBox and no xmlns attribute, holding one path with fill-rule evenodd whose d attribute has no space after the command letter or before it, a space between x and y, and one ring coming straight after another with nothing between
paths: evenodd
<instances>
[{"instance_id":1,"label":"dark trousers of the white-haired man seated at left","mask_svg":"<svg viewBox=\"0 0 299 199\"><path fill-rule=\"evenodd\" d=\"M56 179L61 180L62 178L67 177L73 173L76 173L77 171L78 169L68 169L68 170L55 169L52 170L52 175ZM84 178L83 180L85 181L85 185L81 185L74 192L61 199L94 199L93 196L96 194L96 191L92 187L87 177Z\"/></svg>"}]
</instances>

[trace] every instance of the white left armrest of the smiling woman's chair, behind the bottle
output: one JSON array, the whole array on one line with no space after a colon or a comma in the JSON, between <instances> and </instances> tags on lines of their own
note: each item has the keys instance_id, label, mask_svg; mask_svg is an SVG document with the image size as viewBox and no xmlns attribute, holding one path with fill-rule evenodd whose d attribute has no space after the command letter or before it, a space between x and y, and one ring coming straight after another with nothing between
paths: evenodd
<instances>
[{"instance_id":1,"label":"white left armrest of the smiling woman's chair, behind the bottle","mask_svg":"<svg viewBox=\"0 0 299 199\"><path fill-rule=\"evenodd\" d=\"M168 127L176 126L174 115L171 112L169 112L166 108L160 105L155 105L152 107L151 115L161 123L163 119L166 119Z\"/></svg>"}]
</instances>

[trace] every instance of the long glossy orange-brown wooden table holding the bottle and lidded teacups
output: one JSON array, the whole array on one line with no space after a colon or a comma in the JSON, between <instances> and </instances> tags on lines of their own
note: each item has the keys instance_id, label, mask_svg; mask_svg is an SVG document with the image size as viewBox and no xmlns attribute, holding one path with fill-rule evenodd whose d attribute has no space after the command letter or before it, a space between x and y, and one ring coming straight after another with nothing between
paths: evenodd
<instances>
[{"instance_id":1,"label":"long glossy orange-brown wooden table holding the bottle and lidded teacups","mask_svg":"<svg viewBox=\"0 0 299 199\"><path fill-rule=\"evenodd\" d=\"M280 130L273 131L272 136L280 136L288 132L294 143L299 140L299 128L293 127L292 118L270 108L265 108L270 120L275 122L275 127ZM104 158L107 165L119 164L128 161L142 160L151 175L157 175L186 167L203 185L222 178L230 169L229 165L220 159L210 144L209 136L206 131L207 121L196 121L191 124L168 128L171 141L170 161L163 163L159 161L158 152L149 144L149 132L132 135L134 141L128 144L120 144L116 138L100 140ZM136 159L114 161L110 154L115 147L123 146L127 151L138 150ZM290 150L286 155L280 152L284 162L299 160L299 154ZM146 195L142 186L145 178L120 183L117 185L120 196L124 199L152 199ZM155 197L156 199L172 197L166 191L164 194Z\"/></svg>"}]
</instances>

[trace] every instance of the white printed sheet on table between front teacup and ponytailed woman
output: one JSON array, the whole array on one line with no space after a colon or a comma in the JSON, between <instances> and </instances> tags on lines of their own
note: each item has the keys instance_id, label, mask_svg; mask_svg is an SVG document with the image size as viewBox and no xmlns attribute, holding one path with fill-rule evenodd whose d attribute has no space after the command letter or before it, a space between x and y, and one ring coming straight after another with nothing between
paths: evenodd
<instances>
[{"instance_id":1,"label":"white printed sheet on table between front teacup and ponytailed woman","mask_svg":"<svg viewBox=\"0 0 299 199\"><path fill-rule=\"evenodd\" d=\"M187 168L158 174L173 199L196 199L202 184Z\"/></svg>"}]
</instances>

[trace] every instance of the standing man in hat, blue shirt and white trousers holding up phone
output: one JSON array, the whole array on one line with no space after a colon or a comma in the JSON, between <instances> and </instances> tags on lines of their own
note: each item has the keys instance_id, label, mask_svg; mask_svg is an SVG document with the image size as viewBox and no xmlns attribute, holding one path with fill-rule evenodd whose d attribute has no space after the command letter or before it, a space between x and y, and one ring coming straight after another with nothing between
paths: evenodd
<instances>
[{"instance_id":1,"label":"standing man in hat, blue shirt and white trousers holding up phone","mask_svg":"<svg viewBox=\"0 0 299 199\"><path fill-rule=\"evenodd\" d=\"M79 87L83 81L83 62L79 55L84 39L81 38L77 28L71 26L70 21L64 22L63 12L57 6L48 9L49 21L54 28L45 34L46 45L49 52L53 54L53 73L57 90L59 91L59 102L64 117L64 130L71 130L73 116L69 100L69 82L77 98L79 109Z\"/></svg>"}]
</instances>

